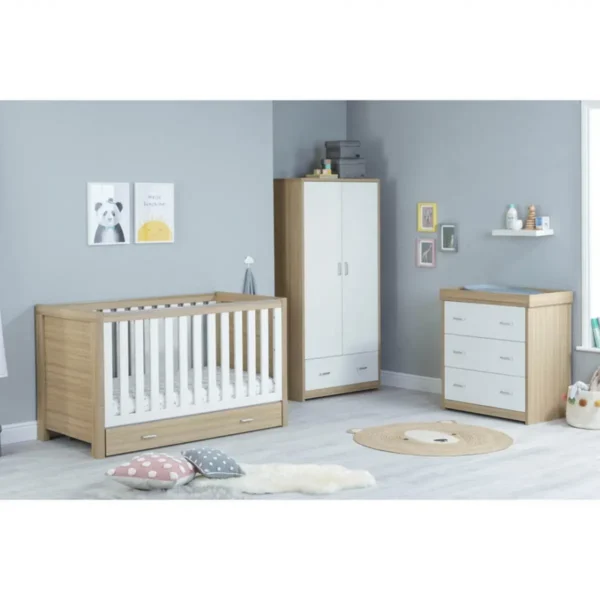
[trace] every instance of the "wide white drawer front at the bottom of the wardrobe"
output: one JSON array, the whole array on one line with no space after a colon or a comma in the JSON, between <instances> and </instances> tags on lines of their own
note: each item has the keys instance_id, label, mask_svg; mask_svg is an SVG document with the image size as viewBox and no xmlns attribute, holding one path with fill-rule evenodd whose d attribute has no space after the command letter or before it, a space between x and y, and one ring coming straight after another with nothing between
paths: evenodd
<instances>
[{"instance_id":1,"label":"wide white drawer front at the bottom of the wardrobe","mask_svg":"<svg viewBox=\"0 0 600 600\"><path fill-rule=\"evenodd\" d=\"M377 379L379 379L377 352L314 358L305 362L304 383L307 391Z\"/></svg>"}]
</instances>

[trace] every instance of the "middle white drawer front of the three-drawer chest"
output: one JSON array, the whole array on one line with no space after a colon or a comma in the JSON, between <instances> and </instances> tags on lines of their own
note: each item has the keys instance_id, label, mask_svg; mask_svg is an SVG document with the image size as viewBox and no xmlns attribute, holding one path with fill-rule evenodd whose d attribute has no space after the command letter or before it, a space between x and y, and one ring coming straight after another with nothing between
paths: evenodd
<instances>
[{"instance_id":1,"label":"middle white drawer front of the three-drawer chest","mask_svg":"<svg viewBox=\"0 0 600 600\"><path fill-rule=\"evenodd\" d=\"M447 334L444 365L525 377L525 342L507 342Z\"/></svg>"}]
</instances>

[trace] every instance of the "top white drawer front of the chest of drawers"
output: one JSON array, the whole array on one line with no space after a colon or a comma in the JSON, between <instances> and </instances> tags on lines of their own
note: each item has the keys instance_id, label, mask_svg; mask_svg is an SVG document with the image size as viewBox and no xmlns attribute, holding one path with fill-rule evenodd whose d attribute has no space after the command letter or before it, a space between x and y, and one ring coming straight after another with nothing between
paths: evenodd
<instances>
[{"instance_id":1,"label":"top white drawer front of the chest of drawers","mask_svg":"<svg viewBox=\"0 0 600 600\"><path fill-rule=\"evenodd\" d=\"M444 333L525 341L525 309L520 306L444 303Z\"/></svg>"}]
</instances>

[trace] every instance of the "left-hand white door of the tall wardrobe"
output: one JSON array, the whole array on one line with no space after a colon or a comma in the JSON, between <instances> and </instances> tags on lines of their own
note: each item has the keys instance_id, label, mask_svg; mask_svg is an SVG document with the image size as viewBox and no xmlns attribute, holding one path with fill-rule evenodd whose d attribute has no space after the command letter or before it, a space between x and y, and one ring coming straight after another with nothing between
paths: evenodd
<instances>
[{"instance_id":1,"label":"left-hand white door of the tall wardrobe","mask_svg":"<svg viewBox=\"0 0 600 600\"><path fill-rule=\"evenodd\" d=\"M340 183L304 184L305 358L342 353Z\"/></svg>"}]
</instances>

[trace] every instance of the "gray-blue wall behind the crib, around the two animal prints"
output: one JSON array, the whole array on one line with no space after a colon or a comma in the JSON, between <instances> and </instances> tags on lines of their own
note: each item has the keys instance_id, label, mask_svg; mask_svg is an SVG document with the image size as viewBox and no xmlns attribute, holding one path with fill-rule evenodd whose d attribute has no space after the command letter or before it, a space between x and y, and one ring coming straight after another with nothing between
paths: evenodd
<instances>
[{"instance_id":1,"label":"gray-blue wall behind the crib, around the two animal prints","mask_svg":"<svg viewBox=\"0 0 600 600\"><path fill-rule=\"evenodd\" d=\"M271 102L0 102L0 423L35 411L33 307L273 292ZM88 181L174 182L176 242L88 247Z\"/></svg>"}]
</instances>

